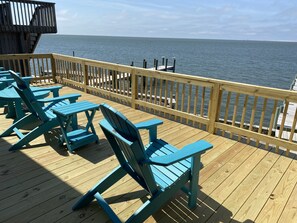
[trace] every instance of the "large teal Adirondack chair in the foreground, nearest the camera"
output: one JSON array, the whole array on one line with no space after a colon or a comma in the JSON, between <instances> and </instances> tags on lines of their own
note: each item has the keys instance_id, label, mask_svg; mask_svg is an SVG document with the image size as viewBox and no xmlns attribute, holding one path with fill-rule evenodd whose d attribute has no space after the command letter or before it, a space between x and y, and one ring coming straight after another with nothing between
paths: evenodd
<instances>
[{"instance_id":1,"label":"large teal Adirondack chair in the foreground, nearest the camera","mask_svg":"<svg viewBox=\"0 0 297 223\"><path fill-rule=\"evenodd\" d=\"M212 148L212 145L200 140L178 150L162 139L157 139L157 126L162 124L162 121L152 119L134 125L107 104L101 104L100 110L105 118L100 122L100 126L120 166L87 192L73 206L73 210L85 207L96 199L113 222L121 222L104 200L102 193L126 174L151 196L126 222L143 222L179 189L189 196L188 206L195 207L201 168L200 156ZM146 146L142 143L139 129L149 130L150 142Z\"/></svg>"}]
</instances>

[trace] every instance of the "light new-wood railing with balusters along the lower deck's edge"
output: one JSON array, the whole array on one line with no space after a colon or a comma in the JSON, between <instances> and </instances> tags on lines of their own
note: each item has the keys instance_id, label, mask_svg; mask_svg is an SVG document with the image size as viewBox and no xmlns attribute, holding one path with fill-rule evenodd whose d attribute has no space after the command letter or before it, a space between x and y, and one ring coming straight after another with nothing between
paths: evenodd
<instances>
[{"instance_id":1,"label":"light new-wood railing with balusters along the lower deck's edge","mask_svg":"<svg viewBox=\"0 0 297 223\"><path fill-rule=\"evenodd\" d=\"M287 154L297 151L297 110L290 126L285 126L286 115L278 129L276 126L277 108L297 103L294 91L58 54L6 55L0 56L1 63L5 67L13 64L11 69L27 64L24 75L33 74L35 81L54 80L213 134L266 149L285 150ZM280 133L278 137L276 131ZM290 134L288 139L282 138L283 131Z\"/></svg>"}]
</instances>

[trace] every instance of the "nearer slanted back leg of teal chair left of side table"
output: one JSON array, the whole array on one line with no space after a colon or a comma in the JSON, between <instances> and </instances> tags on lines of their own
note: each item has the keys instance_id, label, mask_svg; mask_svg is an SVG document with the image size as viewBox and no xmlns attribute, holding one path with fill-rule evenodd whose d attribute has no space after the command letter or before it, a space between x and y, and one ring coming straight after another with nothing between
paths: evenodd
<instances>
[{"instance_id":1,"label":"nearer slanted back leg of teal chair left of side table","mask_svg":"<svg viewBox=\"0 0 297 223\"><path fill-rule=\"evenodd\" d=\"M10 147L9 151L15 151L15 150L22 148L23 146L27 145L32 140L43 135L44 133L48 132L52 128L56 127L57 125L58 125L58 122L51 121L51 122L43 123L40 126L37 126L33 130L31 130L29 133L24 135L24 137L20 138L20 140L17 143L13 144L12 147Z\"/></svg>"}]
</instances>

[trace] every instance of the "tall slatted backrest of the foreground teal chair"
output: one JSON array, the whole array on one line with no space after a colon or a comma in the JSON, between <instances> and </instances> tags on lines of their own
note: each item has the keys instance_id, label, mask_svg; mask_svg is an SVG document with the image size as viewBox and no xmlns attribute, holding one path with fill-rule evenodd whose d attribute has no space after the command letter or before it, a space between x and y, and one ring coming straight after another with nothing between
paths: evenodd
<instances>
[{"instance_id":1,"label":"tall slatted backrest of the foreground teal chair","mask_svg":"<svg viewBox=\"0 0 297 223\"><path fill-rule=\"evenodd\" d=\"M103 132L111 144L120 165L144 189L154 194L158 187L149 165L140 165L147 155L138 129L120 112L101 104L104 120L100 122Z\"/></svg>"}]
</instances>

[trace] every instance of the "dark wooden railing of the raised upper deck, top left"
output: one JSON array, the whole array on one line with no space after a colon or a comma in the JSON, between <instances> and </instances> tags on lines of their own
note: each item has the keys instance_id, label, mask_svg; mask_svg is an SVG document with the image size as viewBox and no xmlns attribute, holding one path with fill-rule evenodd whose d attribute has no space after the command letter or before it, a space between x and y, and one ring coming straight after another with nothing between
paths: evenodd
<instances>
[{"instance_id":1,"label":"dark wooden railing of the raised upper deck, top left","mask_svg":"<svg viewBox=\"0 0 297 223\"><path fill-rule=\"evenodd\" d=\"M0 32L56 33L55 4L0 0Z\"/></svg>"}]
</instances>

